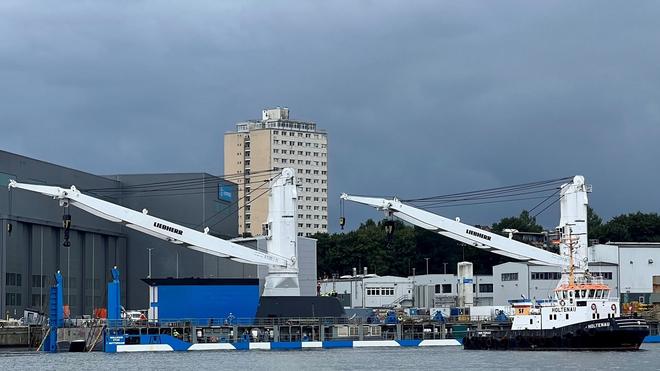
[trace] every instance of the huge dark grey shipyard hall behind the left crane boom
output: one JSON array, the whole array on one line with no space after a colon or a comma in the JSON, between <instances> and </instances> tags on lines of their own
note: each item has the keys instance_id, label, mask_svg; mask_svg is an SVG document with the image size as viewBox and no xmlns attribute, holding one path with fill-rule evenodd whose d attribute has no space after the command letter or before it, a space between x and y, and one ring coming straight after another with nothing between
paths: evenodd
<instances>
[{"instance_id":1,"label":"huge dark grey shipyard hall behind the left crane boom","mask_svg":"<svg viewBox=\"0 0 660 371\"><path fill-rule=\"evenodd\" d=\"M206 173L100 176L0 151L0 312L20 317L24 308L46 311L52 277L64 277L64 304L72 317L104 307L110 270L121 272L121 302L146 309L144 278L255 278L266 269L203 254L153 238L77 208L72 217L70 247L63 246L62 215L57 201L12 190L10 179L69 188L155 215L221 238L236 236L237 187ZM265 249L259 241L239 243ZM300 238L301 291L315 292L316 244ZM312 258L313 257L313 258ZM312 267L313 266L313 267ZM310 271L313 270L313 271ZM313 279L310 279L313 277ZM303 285L303 281L305 284ZM304 287L304 288L303 288ZM312 294L313 295L313 294Z\"/></svg>"}]
</instances>

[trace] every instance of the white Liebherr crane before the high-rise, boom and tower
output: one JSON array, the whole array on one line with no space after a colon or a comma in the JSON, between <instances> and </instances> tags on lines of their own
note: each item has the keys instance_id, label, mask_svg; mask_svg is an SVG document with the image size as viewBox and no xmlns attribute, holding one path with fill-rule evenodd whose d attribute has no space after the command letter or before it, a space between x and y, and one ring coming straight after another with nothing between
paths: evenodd
<instances>
[{"instance_id":1,"label":"white Liebherr crane before the high-rise, boom and tower","mask_svg":"<svg viewBox=\"0 0 660 371\"><path fill-rule=\"evenodd\" d=\"M100 218L206 254L241 263L269 266L264 295L299 296L295 230L297 194L294 174L292 169L285 168L271 181L267 252L253 250L209 235L208 227L205 227L203 232L196 231L151 216L146 209L139 212L88 196L75 186L65 189L11 180L9 189L41 193L59 200L60 206L75 206Z\"/></svg>"}]
</instances>

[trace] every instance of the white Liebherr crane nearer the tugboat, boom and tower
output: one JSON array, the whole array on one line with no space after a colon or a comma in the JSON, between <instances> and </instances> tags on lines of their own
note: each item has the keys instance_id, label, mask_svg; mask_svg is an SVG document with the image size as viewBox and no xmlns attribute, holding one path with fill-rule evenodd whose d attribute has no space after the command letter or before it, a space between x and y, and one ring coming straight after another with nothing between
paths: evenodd
<instances>
[{"instance_id":1,"label":"white Liebherr crane nearer the tugboat, boom and tower","mask_svg":"<svg viewBox=\"0 0 660 371\"><path fill-rule=\"evenodd\" d=\"M576 268L586 269L587 260L587 191L584 177L575 176L571 183L562 185L561 189L561 219L560 231L579 236L573 248L582 258L576 261ZM471 225L433 214L431 212L406 205L396 198L385 199L377 197L351 196L343 193L341 198L360 204L369 205L385 211L388 216L395 216L418 227L428 229L443 236L463 242L469 246L492 251L516 260L532 264L566 267L567 247L561 245L560 254L555 254L534 246L485 231ZM569 227L569 228L565 228ZM562 239L563 240L563 239Z\"/></svg>"}]
</instances>

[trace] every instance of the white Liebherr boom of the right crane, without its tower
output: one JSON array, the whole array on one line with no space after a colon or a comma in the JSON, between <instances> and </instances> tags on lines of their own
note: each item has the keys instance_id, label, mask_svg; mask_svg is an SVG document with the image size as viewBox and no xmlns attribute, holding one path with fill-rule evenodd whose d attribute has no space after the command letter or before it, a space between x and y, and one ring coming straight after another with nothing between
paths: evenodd
<instances>
[{"instance_id":1,"label":"white Liebherr boom of the right crane, without its tower","mask_svg":"<svg viewBox=\"0 0 660 371\"><path fill-rule=\"evenodd\" d=\"M563 265L563 258L559 254L542 250L461 223L458 219L452 220L426 210L406 205L396 198L385 199L378 197L350 196L346 193L343 193L341 198L347 201L375 207L376 209L385 211L387 215L395 216L420 228L439 233L470 246L488 250L499 255L539 265Z\"/></svg>"}]
</instances>

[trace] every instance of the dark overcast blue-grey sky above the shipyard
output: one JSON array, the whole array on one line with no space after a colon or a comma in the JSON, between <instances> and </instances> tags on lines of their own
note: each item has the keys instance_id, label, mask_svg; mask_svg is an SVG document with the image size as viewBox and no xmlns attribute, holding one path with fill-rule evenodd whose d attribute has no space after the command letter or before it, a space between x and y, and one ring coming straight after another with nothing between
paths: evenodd
<instances>
[{"instance_id":1,"label":"dark overcast blue-grey sky above the shipyard","mask_svg":"<svg viewBox=\"0 0 660 371\"><path fill-rule=\"evenodd\" d=\"M287 106L329 133L333 230L341 192L575 174L605 218L658 212L659 19L656 1L3 0L0 149L222 174L223 133ZM491 224L534 204L442 213Z\"/></svg>"}]
</instances>

